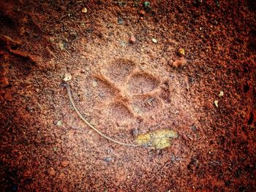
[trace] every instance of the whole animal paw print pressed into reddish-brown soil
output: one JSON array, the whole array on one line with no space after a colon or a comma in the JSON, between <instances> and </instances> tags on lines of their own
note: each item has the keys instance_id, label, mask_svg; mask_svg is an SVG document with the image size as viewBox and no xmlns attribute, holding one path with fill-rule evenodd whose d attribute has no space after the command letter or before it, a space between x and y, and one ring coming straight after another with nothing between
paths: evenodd
<instances>
[{"instance_id":1,"label":"whole animal paw print pressed into reddish-brown soil","mask_svg":"<svg viewBox=\"0 0 256 192\"><path fill-rule=\"evenodd\" d=\"M95 93L110 119L129 121L154 115L162 108L160 80L133 61L120 58L102 67L94 77Z\"/></svg>"}]
</instances>

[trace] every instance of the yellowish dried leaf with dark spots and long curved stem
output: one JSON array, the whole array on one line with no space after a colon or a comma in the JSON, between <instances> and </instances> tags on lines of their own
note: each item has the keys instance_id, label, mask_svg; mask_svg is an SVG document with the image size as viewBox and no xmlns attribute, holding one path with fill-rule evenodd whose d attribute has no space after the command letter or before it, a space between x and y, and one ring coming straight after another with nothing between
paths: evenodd
<instances>
[{"instance_id":1,"label":"yellowish dried leaf with dark spots and long curved stem","mask_svg":"<svg viewBox=\"0 0 256 192\"><path fill-rule=\"evenodd\" d=\"M135 142L138 145L145 145L146 147L152 147L160 150L166 147L170 147L170 138L177 138L178 134L168 128L159 129L157 131L151 131L146 134L140 134L135 138Z\"/></svg>"}]
</instances>

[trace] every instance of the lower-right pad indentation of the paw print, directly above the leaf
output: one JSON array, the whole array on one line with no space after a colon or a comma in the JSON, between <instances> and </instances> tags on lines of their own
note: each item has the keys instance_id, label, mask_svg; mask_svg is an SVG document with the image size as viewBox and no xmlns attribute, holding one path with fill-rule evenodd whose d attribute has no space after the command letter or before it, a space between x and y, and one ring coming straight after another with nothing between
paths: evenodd
<instances>
[{"instance_id":1,"label":"lower-right pad indentation of the paw print, directly above the leaf","mask_svg":"<svg viewBox=\"0 0 256 192\"><path fill-rule=\"evenodd\" d=\"M137 113L156 112L161 107L161 101L154 96L135 96L132 99L132 109Z\"/></svg>"}]
</instances>

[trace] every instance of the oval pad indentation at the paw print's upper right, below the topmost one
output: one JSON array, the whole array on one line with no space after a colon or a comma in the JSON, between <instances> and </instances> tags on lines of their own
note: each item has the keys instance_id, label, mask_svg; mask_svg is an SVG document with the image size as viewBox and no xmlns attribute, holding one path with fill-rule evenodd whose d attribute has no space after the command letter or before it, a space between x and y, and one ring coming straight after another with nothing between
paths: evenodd
<instances>
[{"instance_id":1,"label":"oval pad indentation at the paw print's upper right, below the topmost one","mask_svg":"<svg viewBox=\"0 0 256 192\"><path fill-rule=\"evenodd\" d=\"M127 82L128 91L132 94L142 94L157 88L158 81L149 74L133 74Z\"/></svg>"}]
</instances>

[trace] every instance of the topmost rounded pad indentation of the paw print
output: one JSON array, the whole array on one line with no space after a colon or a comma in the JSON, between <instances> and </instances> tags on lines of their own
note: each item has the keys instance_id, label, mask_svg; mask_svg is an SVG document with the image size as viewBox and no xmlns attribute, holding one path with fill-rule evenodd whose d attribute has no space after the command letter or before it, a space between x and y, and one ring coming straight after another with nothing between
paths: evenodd
<instances>
[{"instance_id":1,"label":"topmost rounded pad indentation of the paw print","mask_svg":"<svg viewBox=\"0 0 256 192\"><path fill-rule=\"evenodd\" d=\"M106 67L103 74L113 82L125 82L127 76L135 69L135 64L132 61L119 58L112 64Z\"/></svg>"}]
</instances>

